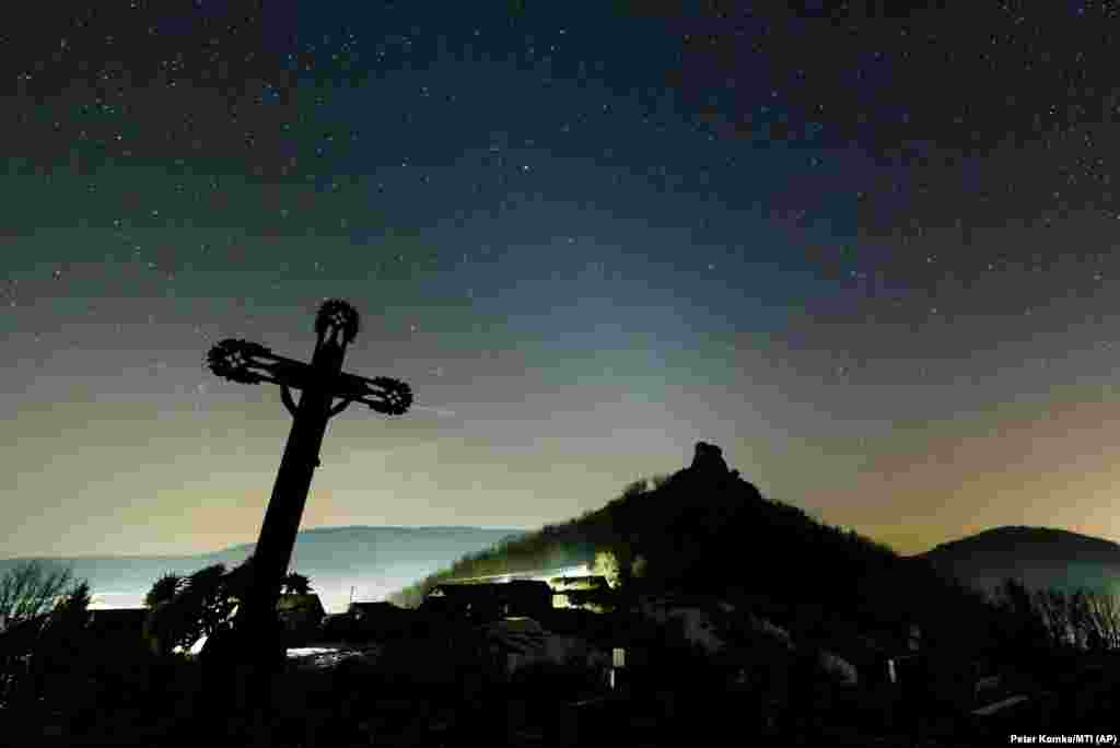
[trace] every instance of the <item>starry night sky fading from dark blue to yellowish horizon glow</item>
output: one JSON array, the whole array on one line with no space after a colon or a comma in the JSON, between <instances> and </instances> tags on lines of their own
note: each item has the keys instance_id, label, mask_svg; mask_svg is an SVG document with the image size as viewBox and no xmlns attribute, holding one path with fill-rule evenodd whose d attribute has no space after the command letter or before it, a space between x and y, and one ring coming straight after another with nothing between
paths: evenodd
<instances>
[{"instance_id":1,"label":"starry night sky fading from dark blue to yellowish horizon glow","mask_svg":"<svg viewBox=\"0 0 1120 748\"><path fill-rule=\"evenodd\" d=\"M707 440L904 553L1120 541L1117 4L928 4L37 3L0 557L254 541L290 419L205 355L327 297L417 406L332 421L304 527L535 529Z\"/></svg>"}]
</instances>

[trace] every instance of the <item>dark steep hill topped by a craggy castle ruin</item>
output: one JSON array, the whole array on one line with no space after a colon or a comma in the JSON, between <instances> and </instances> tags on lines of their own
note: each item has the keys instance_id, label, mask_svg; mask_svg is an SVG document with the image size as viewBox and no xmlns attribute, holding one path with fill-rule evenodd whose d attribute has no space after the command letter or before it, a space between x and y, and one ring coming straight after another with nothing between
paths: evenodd
<instances>
[{"instance_id":1,"label":"dark steep hill topped by a craggy castle ruin","mask_svg":"<svg viewBox=\"0 0 1120 748\"><path fill-rule=\"evenodd\" d=\"M704 442L684 469L636 481L576 520L465 557L390 599L411 607L444 579L594 563L600 552L617 559L620 589L745 602L801 635L824 635L841 620L862 630L917 620L948 641L959 637L962 619L980 616L979 596L925 559L900 557L764 497Z\"/></svg>"}]
</instances>

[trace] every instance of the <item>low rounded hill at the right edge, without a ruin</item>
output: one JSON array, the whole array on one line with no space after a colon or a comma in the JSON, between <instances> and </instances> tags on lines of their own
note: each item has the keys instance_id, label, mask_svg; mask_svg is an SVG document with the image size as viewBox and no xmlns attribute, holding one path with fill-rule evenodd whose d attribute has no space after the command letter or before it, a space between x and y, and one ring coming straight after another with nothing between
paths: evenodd
<instances>
[{"instance_id":1,"label":"low rounded hill at the right edge, without a ruin","mask_svg":"<svg viewBox=\"0 0 1120 748\"><path fill-rule=\"evenodd\" d=\"M1051 527L995 527L942 543L917 558L990 591L1006 578L1029 589L1085 588L1120 595L1120 545Z\"/></svg>"}]
</instances>

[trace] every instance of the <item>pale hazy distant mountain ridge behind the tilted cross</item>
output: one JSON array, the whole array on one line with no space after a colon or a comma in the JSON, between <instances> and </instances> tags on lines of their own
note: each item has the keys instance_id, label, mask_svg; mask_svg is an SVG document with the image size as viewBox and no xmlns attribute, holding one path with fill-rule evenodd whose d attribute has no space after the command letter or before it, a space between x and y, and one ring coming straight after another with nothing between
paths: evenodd
<instances>
[{"instance_id":1,"label":"pale hazy distant mountain ridge behind the tilted cross","mask_svg":"<svg viewBox=\"0 0 1120 748\"><path fill-rule=\"evenodd\" d=\"M314 527L296 537L290 569L308 577L329 611L355 600L379 599L422 579L464 554L520 537L520 529L466 526L376 527L348 525ZM152 582L167 572L192 573L214 563L227 568L244 561L255 543L193 555L21 557L0 559L0 574L38 560L54 568L72 567L75 579L87 579L94 607L128 608L143 604Z\"/></svg>"}]
</instances>

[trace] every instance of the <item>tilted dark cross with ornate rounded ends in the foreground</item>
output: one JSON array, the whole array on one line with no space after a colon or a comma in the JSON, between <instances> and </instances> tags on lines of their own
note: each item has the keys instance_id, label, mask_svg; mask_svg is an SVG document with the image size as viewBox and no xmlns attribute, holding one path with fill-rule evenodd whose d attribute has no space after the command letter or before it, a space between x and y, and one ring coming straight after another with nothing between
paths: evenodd
<instances>
[{"instance_id":1,"label":"tilted dark cross with ornate rounded ends in the foreground","mask_svg":"<svg viewBox=\"0 0 1120 748\"><path fill-rule=\"evenodd\" d=\"M243 384L279 384L281 400L292 414L288 443L253 552L249 590L234 623L235 629L249 634L239 637L245 645L258 642L267 646L263 642L276 629L277 601L296 545L311 476L319 465L327 421L353 402L388 415L402 415L412 405L412 390L404 382L385 376L365 378L342 371L346 346L354 340L357 328L354 307L330 299L315 318L316 344L310 364L277 356L258 343L233 338L222 340L207 355L211 371L221 377ZM292 400L292 390L302 392L299 405ZM336 398L339 402L332 404ZM258 663L269 656L264 651L243 654Z\"/></svg>"}]
</instances>

